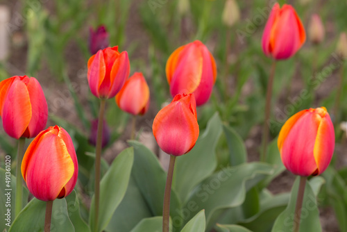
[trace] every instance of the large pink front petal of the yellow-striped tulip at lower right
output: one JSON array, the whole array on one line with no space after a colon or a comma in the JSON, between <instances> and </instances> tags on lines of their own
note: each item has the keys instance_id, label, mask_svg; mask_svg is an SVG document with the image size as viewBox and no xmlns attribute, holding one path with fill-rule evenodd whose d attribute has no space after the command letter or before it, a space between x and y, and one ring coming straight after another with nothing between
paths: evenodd
<instances>
[{"instance_id":1,"label":"large pink front petal of the yellow-striped tulip at lower right","mask_svg":"<svg viewBox=\"0 0 347 232\"><path fill-rule=\"evenodd\" d=\"M285 167L293 174L310 176L316 171L313 151L319 124L320 119L316 114L307 110L297 119L285 138L281 158Z\"/></svg>"}]
</instances>

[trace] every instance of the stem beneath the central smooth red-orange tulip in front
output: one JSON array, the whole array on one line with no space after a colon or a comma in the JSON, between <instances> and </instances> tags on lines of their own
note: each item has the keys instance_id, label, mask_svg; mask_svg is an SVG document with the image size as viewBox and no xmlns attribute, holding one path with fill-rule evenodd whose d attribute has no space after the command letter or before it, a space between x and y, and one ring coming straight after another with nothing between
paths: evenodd
<instances>
[{"instance_id":1,"label":"stem beneath the central smooth red-orange tulip in front","mask_svg":"<svg viewBox=\"0 0 347 232\"><path fill-rule=\"evenodd\" d=\"M162 208L162 232L169 232L169 218L170 218L170 196L172 176L174 175L176 156L170 155L169 171L167 172L167 184L165 185L164 192L164 206Z\"/></svg>"}]
</instances>

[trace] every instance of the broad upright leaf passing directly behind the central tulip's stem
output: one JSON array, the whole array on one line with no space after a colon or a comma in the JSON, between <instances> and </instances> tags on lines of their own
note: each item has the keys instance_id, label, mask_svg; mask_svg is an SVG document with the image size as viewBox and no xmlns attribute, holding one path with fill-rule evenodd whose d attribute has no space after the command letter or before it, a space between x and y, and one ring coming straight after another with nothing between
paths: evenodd
<instances>
[{"instance_id":1,"label":"broad upright leaf passing directly behind the central tulip's stem","mask_svg":"<svg viewBox=\"0 0 347 232\"><path fill-rule=\"evenodd\" d=\"M144 144L135 140L130 140L128 143L134 148L135 158L132 175L137 187L146 200L152 215L160 216L162 215L167 173L160 166L158 158ZM182 226L183 221L181 220L181 204L174 189L171 190L170 205L173 226L178 229Z\"/></svg>"}]
</instances>

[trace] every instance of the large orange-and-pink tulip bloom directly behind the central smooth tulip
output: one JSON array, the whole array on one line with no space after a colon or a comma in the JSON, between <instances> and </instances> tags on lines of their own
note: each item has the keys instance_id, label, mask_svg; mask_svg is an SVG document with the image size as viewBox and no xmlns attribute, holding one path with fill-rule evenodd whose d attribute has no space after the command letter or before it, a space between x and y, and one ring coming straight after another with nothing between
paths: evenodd
<instances>
[{"instance_id":1,"label":"large orange-and-pink tulip bloom directly behind the central smooth tulip","mask_svg":"<svg viewBox=\"0 0 347 232\"><path fill-rule=\"evenodd\" d=\"M179 47L171 54L166 73L172 97L194 93L197 106L210 99L217 78L214 58L198 40Z\"/></svg>"}]
</instances>

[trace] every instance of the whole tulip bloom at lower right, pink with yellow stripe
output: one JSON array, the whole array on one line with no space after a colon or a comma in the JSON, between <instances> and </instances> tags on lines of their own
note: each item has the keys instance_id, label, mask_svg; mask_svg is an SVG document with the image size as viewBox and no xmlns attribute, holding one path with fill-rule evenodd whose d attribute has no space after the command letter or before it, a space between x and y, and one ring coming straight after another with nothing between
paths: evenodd
<instances>
[{"instance_id":1,"label":"whole tulip bloom at lower right, pink with yellow stripe","mask_svg":"<svg viewBox=\"0 0 347 232\"><path fill-rule=\"evenodd\" d=\"M293 174L322 174L335 147L335 132L325 107L302 110L290 117L278 136L282 162Z\"/></svg>"}]
</instances>

